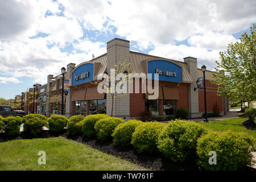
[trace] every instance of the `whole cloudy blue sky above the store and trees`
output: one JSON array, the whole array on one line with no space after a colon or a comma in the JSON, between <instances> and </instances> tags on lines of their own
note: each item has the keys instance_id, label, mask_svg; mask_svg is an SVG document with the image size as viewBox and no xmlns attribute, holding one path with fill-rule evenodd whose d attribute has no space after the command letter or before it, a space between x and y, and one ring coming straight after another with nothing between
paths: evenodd
<instances>
[{"instance_id":1,"label":"whole cloudy blue sky above the store and trees","mask_svg":"<svg viewBox=\"0 0 256 182\"><path fill-rule=\"evenodd\" d=\"M113 38L130 50L214 71L219 52L256 22L255 0L1 0L0 98L106 53Z\"/></svg>"}]
</instances>

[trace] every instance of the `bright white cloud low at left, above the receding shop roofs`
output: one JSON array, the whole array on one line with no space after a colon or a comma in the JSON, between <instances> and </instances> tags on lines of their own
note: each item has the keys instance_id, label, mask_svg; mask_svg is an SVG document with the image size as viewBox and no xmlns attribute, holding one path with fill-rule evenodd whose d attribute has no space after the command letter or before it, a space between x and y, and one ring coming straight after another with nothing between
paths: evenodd
<instances>
[{"instance_id":1,"label":"bright white cloud low at left, above the receding shop roofs","mask_svg":"<svg viewBox=\"0 0 256 182\"><path fill-rule=\"evenodd\" d=\"M100 56L106 52L104 43L82 40L74 44L82 53L61 52L60 48L47 47L47 38L26 39L24 42L2 42L0 44L1 75L32 77L35 82L44 84L47 75L60 74L60 68L69 63L80 64L92 59L92 53Z\"/></svg>"}]
</instances>

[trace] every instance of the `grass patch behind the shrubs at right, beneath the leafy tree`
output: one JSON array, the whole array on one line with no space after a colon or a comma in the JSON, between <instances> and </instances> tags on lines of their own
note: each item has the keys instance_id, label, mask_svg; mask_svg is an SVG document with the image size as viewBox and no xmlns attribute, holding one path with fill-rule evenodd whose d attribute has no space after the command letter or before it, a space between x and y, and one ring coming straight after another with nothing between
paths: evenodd
<instances>
[{"instance_id":1,"label":"grass patch behind the shrubs at right, beneath the leafy tree","mask_svg":"<svg viewBox=\"0 0 256 182\"><path fill-rule=\"evenodd\" d=\"M256 138L255 130L247 130L245 126L243 126L242 122L246 121L248 118L232 118L232 119L220 119L213 120L205 123L200 121L200 125L204 125L211 130L214 131L224 131L224 130L232 130L232 131L242 131L247 134L253 135Z\"/></svg>"}]
</instances>

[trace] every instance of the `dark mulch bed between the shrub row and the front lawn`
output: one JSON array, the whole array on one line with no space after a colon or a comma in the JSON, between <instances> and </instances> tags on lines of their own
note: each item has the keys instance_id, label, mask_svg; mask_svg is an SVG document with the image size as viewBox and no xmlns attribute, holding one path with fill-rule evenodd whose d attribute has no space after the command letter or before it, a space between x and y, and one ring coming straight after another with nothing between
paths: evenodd
<instances>
[{"instance_id":1,"label":"dark mulch bed between the shrub row and the front lawn","mask_svg":"<svg viewBox=\"0 0 256 182\"><path fill-rule=\"evenodd\" d=\"M31 135L22 132L18 136L9 137L6 133L0 133L0 142L7 142L14 139L32 139L32 138L49 138L49 137L66 137L68 139L76 140L79 143L87 144L88 146L100 150L106 154L118 156L121 159L125 159L131 163L137 164L144 168L156 170L156 171L200 171L199 166L195 161L188 161L184 163L175 163L172 160L165 158L162 154L138 154L138 152L132 147L118 147L114 146L112 141L101 142L96 138L86 138L84 136L75 136L72 138L67 137L67 131L64 130L61 133L52 133L49 130L43 130L38 135ZM242 167L239 171L256 171L255 168Z\"/></svg>"}]
</instances>

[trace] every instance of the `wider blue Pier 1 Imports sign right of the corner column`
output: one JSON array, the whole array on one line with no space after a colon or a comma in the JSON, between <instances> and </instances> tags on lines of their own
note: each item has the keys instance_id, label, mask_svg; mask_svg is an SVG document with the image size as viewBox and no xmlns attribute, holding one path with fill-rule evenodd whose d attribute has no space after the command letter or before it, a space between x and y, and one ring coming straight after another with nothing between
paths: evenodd
<instances>
[{"instance_id":1,"label":"wider blue Pier 1 Imports sign right of the corner column","mask_svg":"<svg viewBox=\"0 0 256 182\"><path fill-rule=\"evenodd\" d=\"M159 75L159 80L182 82L181 67L170 61L165 60L152 60L147 62L147 73L154 73Z\"/></svg>"}]
</instances>

